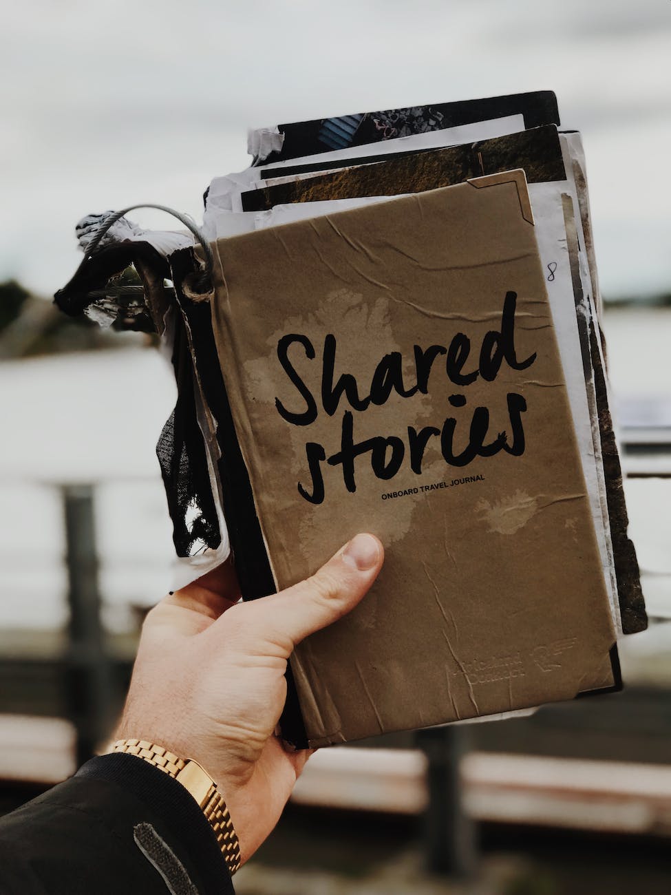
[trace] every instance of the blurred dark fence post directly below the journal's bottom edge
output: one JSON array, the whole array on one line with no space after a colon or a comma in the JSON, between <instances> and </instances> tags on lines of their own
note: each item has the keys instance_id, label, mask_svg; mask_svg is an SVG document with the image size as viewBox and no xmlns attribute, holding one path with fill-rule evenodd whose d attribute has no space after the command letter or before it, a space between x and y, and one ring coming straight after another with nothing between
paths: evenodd
<instances>
[{"instance_id":1,"label":"blurred dark fence post directly below the journal's bottom edge","mask_svg":"<svg viewBox=\"0 0 671 895\"><path fill-rule=\"evenodd\" d=\"M459 763L465 750L462 727L419 730L417 744L428 760L429 805L424 842L429 873L470 877L476 865L475 829L463 810Z\"/></svg>"}]
</instances>

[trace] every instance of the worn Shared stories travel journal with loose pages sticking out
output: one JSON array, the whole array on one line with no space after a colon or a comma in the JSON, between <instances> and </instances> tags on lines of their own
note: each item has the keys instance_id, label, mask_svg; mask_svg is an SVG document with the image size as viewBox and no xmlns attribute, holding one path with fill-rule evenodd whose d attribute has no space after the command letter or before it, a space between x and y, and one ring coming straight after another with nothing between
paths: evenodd
<instances>
[{"instance_id":1,"label":"worn Shared stories travel journal with loose pages sticking out","mask_svg":"<svg viewBox=\"0 0 671 895\"><path fill-rule=\"evenodd\" d=\"M386 548L361 605L294 652L284 737L621 686L617 638L645 609L582 142L555 95L282 124L249 145L252 166L206 195L214 291L173 268L221 535L186 562L200 573L230 544L254 599L354 533Z\"/></svg>"}]
</instances>

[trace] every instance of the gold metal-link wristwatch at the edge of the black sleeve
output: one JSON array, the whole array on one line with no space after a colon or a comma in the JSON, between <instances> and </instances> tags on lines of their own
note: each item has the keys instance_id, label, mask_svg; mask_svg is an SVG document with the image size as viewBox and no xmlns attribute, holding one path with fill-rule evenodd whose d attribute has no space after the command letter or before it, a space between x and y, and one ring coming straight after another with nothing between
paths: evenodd
<instances>
[{"instance_id":1,"label":"gold metal-link wristwatch at the edge of the black sleeve","mask_svg":"<svg viewBox=\"0 0 671 895\"><path fill-rule=\"evenodd\" d=\"M156 743L149 743L144 739L117 740L110 746L109 752L137 755L138 758L153 764L159 771L165 771L188 789L212 827L231 875L235 873L240 867L240 842L224 798L217 790L217 784L198 762L190 758L185 760L178 758L163 746L157 746Z\"/></svg>"}]
</instances>

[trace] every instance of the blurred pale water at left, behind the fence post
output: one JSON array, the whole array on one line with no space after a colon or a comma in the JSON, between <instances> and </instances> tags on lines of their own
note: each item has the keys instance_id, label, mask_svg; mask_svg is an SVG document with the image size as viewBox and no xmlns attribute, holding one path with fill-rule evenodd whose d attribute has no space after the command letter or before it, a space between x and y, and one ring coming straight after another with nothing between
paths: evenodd
<instances>
[{"instance_id":1,"label":"blurred pale water at left, behind the fence post","mask_svg":"<svg viewBox=\"0 0 671 895\"><path fill-rule=\"evenodd\" d=\"M106 621L169 589L171 525L155 445L175 397L156 351L125 349L0 365L0 626L64 623L59 486L95 482Z\"/></svg>"}]
</instances>

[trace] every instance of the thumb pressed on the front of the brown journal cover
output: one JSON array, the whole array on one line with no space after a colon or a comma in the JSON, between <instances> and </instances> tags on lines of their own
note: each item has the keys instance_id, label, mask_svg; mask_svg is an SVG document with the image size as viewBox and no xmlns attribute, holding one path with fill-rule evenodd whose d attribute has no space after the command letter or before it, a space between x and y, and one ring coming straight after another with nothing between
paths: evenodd
<instances>
[{"instance_id":1,"label":"thumb pressed on the front of the brown journal cover","mask_svg":"<svg viewBox=\"0 0 671 895\"><path fill-rule=\"evenodd\" d=\"M378 538L357 534L315 575L255 601L257 631L276 644L287 644L288 658L303 638L346 615L361 601L378 577L384 555Z\"/></svg>"}]
</instances>

